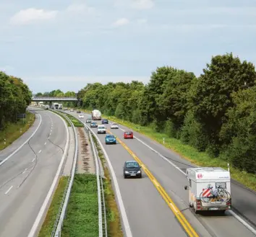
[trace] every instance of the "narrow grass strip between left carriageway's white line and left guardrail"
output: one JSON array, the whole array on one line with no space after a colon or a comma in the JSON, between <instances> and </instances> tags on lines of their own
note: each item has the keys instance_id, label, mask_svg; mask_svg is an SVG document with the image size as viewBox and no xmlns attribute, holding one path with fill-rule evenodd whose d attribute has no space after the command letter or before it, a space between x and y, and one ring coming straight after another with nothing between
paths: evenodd
<instances>
[{"instance_id":1,"label":"narrow grass strip between left carriageway's white line and left guardrail","mask_svg":"<svg viewBox=\"0 0 256 237\"><path fill-rule=\"evenodd\" d=\"M53 231L54 223L59 212L59 207L61 205L61 200L67 187L67 181L69 176L62 176L59 179L58 187L54 193L54 198L51 201L51 206L48 209L46 219L43 222L42 228L40 229L40 233L38 237L51 237L51 231Z\"/></svg>"}]
</instances>

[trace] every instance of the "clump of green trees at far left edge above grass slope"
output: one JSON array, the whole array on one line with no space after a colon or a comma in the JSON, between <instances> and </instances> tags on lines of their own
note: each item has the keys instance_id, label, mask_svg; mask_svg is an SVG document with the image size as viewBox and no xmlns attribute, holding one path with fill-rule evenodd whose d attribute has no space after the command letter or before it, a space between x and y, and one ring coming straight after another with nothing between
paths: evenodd
<instances>
[{"instance_id":1,"label":"clump of green trees at far left edge above grass slope","mask_svg":"<svg viewBox=\"0 0 256 237\"><path fill-rule=\"evenodd\" d=\"M0 71L0 130L9 122L17 122L17 115L25 113L32 93L22 79Z\"/></svg>"}]
</instances>

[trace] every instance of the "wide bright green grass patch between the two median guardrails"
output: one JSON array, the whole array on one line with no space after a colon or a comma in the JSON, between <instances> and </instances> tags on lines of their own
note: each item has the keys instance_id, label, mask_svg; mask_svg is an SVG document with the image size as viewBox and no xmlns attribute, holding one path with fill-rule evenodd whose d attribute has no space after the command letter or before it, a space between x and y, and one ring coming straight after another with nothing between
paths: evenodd
<instances>
[{"instance_id":1,"label":"wide bright green grass patch between the two median guardrails","mask_svg":"<svg viewBox=\"0 0 256 237\"><path fill-rule=\"evenodd\" d=\"M75 174L61 237L98 237L98 192L95 174Z\"/></svg>"}]
</instances>

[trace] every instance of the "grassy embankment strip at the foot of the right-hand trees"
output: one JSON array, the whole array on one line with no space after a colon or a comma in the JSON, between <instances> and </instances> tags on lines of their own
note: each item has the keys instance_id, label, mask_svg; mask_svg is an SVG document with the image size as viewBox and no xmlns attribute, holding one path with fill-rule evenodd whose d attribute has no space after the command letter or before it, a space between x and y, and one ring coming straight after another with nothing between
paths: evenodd
<instances>
[{"instance_id":1,"label":"grassy embankment strip at the foot of the right-hand trees","mask_svg":"<svg viewBox=\"0 0 256 237\"><path fill-rule=\"evenodd\" d=\"M90 111L86 109L81 109L84 112L90 113ZM165 146L166 148L178 153L182 158L187 159L192 164L196 164L197 166L213 166L213 167L222 167L227 169L226 161L223 161L221 158L211 158L205 152L199 152L197 149L192 148L184 143L181 140L175 138L169 138L165 133L157 133L153 128L136 125L132 122L128 122L125 120L120 120L114 116L102 115L103 117L108 118L111 121L117 122L121 125L126 126L132 130L135 130L142 135L146 135L148 138L151 138L158 143L163 144L163 138L165 138ZM256 174L249 174L246 171L241 171L239 169L235 169L234 167L230 167L231 177L236 181L244 184L249 189L256 191Z\"/></svg>"}]
</instances>

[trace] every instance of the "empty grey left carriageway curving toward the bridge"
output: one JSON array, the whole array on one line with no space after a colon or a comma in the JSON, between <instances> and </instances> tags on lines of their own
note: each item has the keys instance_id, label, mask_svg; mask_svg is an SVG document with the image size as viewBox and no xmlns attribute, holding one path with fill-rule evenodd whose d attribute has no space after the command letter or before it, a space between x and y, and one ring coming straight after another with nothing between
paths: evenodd
<instances>
[{"instance_id":1,"label":"empty grey left carriageway curving toward the bridge","mask_svg":"<svg viewBox=\"0 0 256 237\"><path fill-rule=\"evenodd\" d=\"M0 237L27 237L56 175L66 144L64 122L52 112L30 107L34 125L0 152ZM33 137L29 142L25 141ZM25 143L17 153L12 152Z\"/></svg>"}]
</instances>

